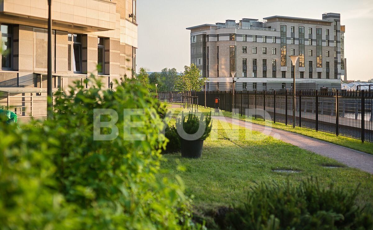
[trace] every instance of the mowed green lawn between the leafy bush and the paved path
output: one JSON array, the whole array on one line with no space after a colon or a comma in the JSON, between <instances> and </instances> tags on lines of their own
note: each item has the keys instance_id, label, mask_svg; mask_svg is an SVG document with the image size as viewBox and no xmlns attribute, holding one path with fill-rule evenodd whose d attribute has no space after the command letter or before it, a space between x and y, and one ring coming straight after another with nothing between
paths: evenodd
<instances>
[{"instance_id":1,"label":"mowed green lawn between the leafy bush and the paved path","mask_svg":"<svg viewBox=\"0 0 373 230\"><path fill-rule=\"evenodd\" d=\"M208 112L200 109L200 112ZM172 109L173 116L180 112ZM170 123L175 123L172 119ZM345 167L326 158L253 132L243 127L213 120L213 131L206 139L200 159L181 158L180 153L164 155L161 177L181 176L186 194L193 197L197 209L239 205L250 186L256 182L300 183L310 177L322 186L333 182L335 186L353 191L360 183L358 203L373 202L373 176ZM341 168L326 168L342 166ZM184 171L177 168L184 167ZM273 169L299 170L300 173L277 173Z\"/></svg>"}]
</instances>

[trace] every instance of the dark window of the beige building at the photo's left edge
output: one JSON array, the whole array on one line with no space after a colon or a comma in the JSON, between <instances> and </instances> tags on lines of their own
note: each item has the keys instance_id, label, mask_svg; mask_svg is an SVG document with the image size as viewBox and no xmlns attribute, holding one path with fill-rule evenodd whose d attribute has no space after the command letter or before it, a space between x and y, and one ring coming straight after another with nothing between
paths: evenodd
<instances>
[{"instance_id":1,"label":"dark window of the beige building at the photo's left edge","mask_svg":"<svg viewBox=\"0 0 373 230\"><path fill-rule=\"evenodd\" d=\"M1 68L12 69L12 26L1 25Z\"/></svg>"}]
</instances>

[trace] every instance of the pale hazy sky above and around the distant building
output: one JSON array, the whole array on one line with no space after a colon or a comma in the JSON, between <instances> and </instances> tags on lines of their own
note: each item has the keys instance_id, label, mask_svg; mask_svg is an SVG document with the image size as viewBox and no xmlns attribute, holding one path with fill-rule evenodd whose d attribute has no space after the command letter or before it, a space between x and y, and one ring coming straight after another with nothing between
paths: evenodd
<instances>
[{"instance_id":1,"label":"pale hazy sky above and around the distant building","mask_svg":"<svg viewBox=\"0 0 373 230\"><path fill-rule=\"evenodd\" d=\"M341 13L346 25L348 79L372 79L372 0L138 0L137 69L183 71L190 64L190 26L274 15L322 19L325 12Z\"/></svg>"}]
</instances>

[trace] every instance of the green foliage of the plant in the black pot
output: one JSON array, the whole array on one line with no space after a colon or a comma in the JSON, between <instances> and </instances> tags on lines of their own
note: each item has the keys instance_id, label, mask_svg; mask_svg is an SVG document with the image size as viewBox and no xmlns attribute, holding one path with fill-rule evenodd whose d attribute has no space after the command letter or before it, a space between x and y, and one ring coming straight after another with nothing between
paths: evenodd
<instances>
[{"instance_id":1,"label":"green foliage of the plant in the black pot","mask_svg":"<svg viewBox=\"0 0 373 230\"><path fill-rule=\"evenodd\" d=\"M203 135L199 138L200 140L205 140L211 132L212 129L212 122L211 122L211 112L210 114L204 117L204 113L201 114L201 117L198 118L197 115L189 113L188 120L185 121L184 113L182 113L181 119L178 119L176 122L177 129L184 129L184 131L188 134L197 133L198 128L200 125L205 127Z\"/></svg>"}]
</instances>

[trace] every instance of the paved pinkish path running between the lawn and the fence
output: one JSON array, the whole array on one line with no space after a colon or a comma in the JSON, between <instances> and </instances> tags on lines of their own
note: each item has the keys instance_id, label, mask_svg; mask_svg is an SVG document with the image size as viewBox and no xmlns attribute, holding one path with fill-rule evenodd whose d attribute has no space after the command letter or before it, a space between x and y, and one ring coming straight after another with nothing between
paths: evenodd
<instances>
[{"instance_id":1,"label":"paved pinkish path running between the lawn and the fence","mask_svg":"<svg viewBox=\"0 0 373 230\"><path fill-rule=\"evenodd\" d=\"M229 122L234 125L239 125L241 127L246 127L251 130L259 131L261 133L264 133L265 135L272 136L289 144L298 146L311 152L315 152L325 157L333 158L349 167L359 168L363 171L373 174L373 155L371 154L345 148L325 141L320 141L297 133L292 133L263 125L257 125L251 122L245 122L230 117L214 116L212 118L224 122Z\"/></svg>"}]
</instances>

